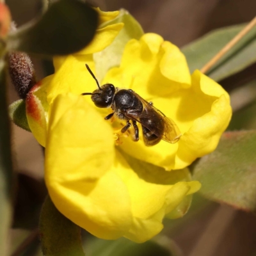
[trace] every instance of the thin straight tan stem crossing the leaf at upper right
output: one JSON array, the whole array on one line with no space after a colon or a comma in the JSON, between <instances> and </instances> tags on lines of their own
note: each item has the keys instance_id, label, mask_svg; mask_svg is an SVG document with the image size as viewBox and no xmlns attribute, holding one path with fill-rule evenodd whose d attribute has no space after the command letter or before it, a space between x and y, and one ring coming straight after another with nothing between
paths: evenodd
<instances>
[{"instance_id":1,"label":"thin straight tan stem crossing the leaf at upper right","mask_svg":"<svg viewBox=\"0 0 256 256\"><path fill-rule=\"evenodd\" d=\"M220 60L220 58L226 54L244 35L246 35L254 26L256 25L256 17L252 19L252 21L243 29L241 30L227 45L225 45L220 52L218 52L208 63L201 68L202 73L206 73L212 66Z\"/></svg>"}]
</instances>

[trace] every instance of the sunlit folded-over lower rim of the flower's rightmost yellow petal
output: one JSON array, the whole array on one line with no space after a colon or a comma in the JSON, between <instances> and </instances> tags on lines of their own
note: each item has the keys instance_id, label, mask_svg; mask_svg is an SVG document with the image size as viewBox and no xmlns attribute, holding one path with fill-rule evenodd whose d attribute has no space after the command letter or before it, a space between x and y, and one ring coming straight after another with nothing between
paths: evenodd
<instances>
[{"instance_id":1,"label":"sunlit folded-over lower rim of the flower's rightmost yellow petal","mask_svg":"<svg viewBox=\"0 0 256 256\"><path fill-rule=\"evenodd\" d=\"M188 166L197 157L211 153L227 128L231 113L228 99L221 95L220 99L212 104L211 112L196 119L189 131L180 138L175 168Z\"/></svg>"}]
</instances>

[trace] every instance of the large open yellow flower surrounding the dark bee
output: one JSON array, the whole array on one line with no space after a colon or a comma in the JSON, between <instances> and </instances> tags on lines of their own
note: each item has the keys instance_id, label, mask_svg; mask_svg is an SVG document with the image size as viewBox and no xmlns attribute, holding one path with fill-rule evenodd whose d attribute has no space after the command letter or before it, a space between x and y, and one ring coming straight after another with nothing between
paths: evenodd
<instances>
[{"instance_id":1,"label":"large open yellow flower surrounding the dark bee","mask_svg":"<svg viewBox=\"0 0 256 256\"><path fill-rule=\"evenodd\" d=\"M27 99L29 126L45 146L52 202L97 237L147 241L161 231L164 217L188 211L200 184L191 181L186 166L216 148L231 116L227 92L198 70L190 76L183 54L161 36L130 40L120 66L111 68L102 83L132 88L152 100L182 132L175 144L146 147L141 139L120 136L120 127L104 120L111 111L81 96L97 88L84 66L95 72L92 54L55 58L54 63L55 74Z\"/></svg>"}]
</instances>

